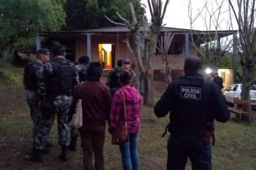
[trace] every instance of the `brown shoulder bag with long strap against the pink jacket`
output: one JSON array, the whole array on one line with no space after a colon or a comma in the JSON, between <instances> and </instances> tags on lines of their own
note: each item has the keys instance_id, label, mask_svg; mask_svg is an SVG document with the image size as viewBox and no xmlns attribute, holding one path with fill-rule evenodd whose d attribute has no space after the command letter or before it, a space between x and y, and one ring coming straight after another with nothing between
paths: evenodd
<instances>
[{"instance_id":1,"label":"brown shoulder bag with long strap against the pink jacket","mask_svg":"<svg viewBox=\"0 0 256 170\"><path fill-rule=\"evenodd\" d=\"M125 98L124 92L122 92L122 99L124 101L124 114L121 115L121 121L119 125L113 130L112 133L112 145L119 145L129 141L128 131L127 131L127 124L126 124L126 105L125 105Z\"/></svg>"}]
</instances>

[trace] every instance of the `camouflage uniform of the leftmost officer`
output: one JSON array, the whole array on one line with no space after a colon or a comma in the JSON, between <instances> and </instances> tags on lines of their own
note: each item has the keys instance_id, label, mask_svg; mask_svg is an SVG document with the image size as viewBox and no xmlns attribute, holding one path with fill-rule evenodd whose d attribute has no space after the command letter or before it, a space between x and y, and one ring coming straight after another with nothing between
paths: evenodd
<instances>
[{"instance_id":1,"label":"camouflage uniform of the leftmost officer","mask_svg":"<svg viewBox=\"0 0 256 170\"><path fill-rule=\"evenodd\" d=\"M28 64L28 67L34 67L34 69L30 68L30 80L25 80L25 88L26 88L26 101L28 106L30 107L30 116L33 120L33 145L35 147L35 143L37 140L37 135L40 133L41 127L44 124L44 120L42 119L42 114L40 111L40 101L44 96L45 84L42 79L44 79L44 64L39 60L35 60L34 62ZM25 68L25 69L26 69ZM26 73L24 73L26 74ZM28 81L28 82L25 82ZM35 82L35 89L31 88L31 86L26 86L26 83ZM46 135L46 142L48 140L49 134ZM44 149L44 148L42 148Z\"/></svg>"}]
</instances>

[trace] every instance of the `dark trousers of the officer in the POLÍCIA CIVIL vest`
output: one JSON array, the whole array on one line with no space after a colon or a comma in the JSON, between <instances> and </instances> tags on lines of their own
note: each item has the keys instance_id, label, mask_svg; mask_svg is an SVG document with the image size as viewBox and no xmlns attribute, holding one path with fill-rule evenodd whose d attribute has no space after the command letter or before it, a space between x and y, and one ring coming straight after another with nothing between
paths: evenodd
<instances>
[{"instance_id":1,"label":"dark trousers of the officer in the POL\u00cdCIA CIVIL vest","mask_svg":"<svg viewBox=\"0 0 256 170\"><path fill-rule=\"evenodd\" d=\"M172 134L167 147L167 170L185 169L188 157L193 170L211 170L211 142L202 136Z\"/></svg>"}]
</instances>

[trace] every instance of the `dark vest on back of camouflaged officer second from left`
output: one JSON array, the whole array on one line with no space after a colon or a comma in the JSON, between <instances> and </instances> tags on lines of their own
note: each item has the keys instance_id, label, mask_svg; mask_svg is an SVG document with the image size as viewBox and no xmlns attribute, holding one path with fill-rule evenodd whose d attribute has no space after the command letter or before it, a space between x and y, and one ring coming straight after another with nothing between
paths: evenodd
<instances>
[{"instance_id":1,"label":"dark vest on back of camouflaged officer second from left","mask_svg":"<svg viewBox=\"0 0 256 170\"><path fill-rule=\"evenodd\" d=\"M47 92L50 96L72 96L73 78L75 73L74 65L69 60L58 62L57 59L50 61L53 67L53 74L50 77Z\"/></svg>"}]
</instances>

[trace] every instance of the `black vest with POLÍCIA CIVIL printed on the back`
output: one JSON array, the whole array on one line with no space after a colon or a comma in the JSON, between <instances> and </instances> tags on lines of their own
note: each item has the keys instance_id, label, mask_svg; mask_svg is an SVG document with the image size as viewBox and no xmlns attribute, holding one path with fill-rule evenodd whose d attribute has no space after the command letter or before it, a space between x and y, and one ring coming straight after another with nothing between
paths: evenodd
<instances>
[{"instance_id":1,"label":"black vest with POL\u00cdCIA CIVIL printed on the back","mask_svg":"<svg viewBox=\"0 0 256 170\"><path fill-rule=\"evenodd\" d=\"M175 106L170 114L171 133L198 133L213 130L211 81L200 77L181 77L175 83Z\"/></svg>"}]
</instances>

